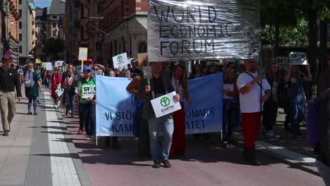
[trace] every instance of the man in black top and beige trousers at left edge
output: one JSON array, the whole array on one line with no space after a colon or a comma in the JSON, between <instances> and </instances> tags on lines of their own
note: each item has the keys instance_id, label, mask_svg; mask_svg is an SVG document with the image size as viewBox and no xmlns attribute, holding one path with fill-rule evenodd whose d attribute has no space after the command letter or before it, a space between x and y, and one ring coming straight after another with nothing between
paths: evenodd
<instances>
[{"instance_id":1,"label":"man in black top and beige trousers at left edge","mask_svg":"<svg viewBox=\"0 0 330 186\"><path fill-rule=\"evenodd\" d=\"M18 101L22 99L17 70L11 68L12 60L11 56L2 57L4 66L0 68L0 110L4 129L3 136L8 136L8 132L11 131L11 121L16 112L16 96Z\"/></svg>"}]
</instances>

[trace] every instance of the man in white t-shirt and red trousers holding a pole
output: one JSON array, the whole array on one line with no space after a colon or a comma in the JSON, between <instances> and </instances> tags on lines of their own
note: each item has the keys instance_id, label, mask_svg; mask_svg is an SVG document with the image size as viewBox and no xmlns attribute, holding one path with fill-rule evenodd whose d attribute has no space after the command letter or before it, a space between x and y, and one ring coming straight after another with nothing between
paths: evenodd
<instances>
[{"instance_id":1,"label":"man in white t-shirt and red trousers holding a pole","mask_svg":"<svg viewBox=\"0 0 330 186\"><path fill-rule=\"evenodd\" d=\"M246 72L241 73L237 80L243 125L243 157L251 165L259 166L261 163L255 156L255 140L261 123L263 104L271 96L271 87L264 75L258 75L257 62L253 58L245 60L244 64Z\"/></svg>"}]
</instances>

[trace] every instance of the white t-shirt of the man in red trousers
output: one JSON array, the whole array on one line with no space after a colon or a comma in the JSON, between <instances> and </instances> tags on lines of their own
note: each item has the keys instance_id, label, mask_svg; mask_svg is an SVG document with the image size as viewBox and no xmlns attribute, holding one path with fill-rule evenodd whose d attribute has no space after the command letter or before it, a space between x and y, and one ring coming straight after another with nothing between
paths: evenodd
<instances>
[{"instance_id":1,"label":"white t-shirt of the man in red trousers","mask_svg":"<svg viewBox=\"0 0 330 186\"><path fill-rule=\"evenodd\" d=\"M257 77L257 73L250 74L253 75L253 77ZM238 90L252 82L252 80L253 78L247 73L241 73L237 79ZM269 82L266 79L262 80L262 87L262 96L264 96L264 92L268 89L271 89ZM247 92L246 94L240 93L241 113L255 113L263 110L260 110L260 89L261 87L257 83L255 83L255 86L253 86L249 92Z\"/></svg>"}]
</instances>

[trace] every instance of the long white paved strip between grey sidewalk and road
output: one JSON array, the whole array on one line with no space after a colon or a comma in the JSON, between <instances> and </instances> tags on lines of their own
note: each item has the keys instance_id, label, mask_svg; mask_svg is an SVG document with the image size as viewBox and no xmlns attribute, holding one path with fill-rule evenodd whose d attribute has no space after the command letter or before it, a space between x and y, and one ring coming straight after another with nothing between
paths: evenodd
<instances>
[{"instance_id":1,"label":"long white paved strip between grey sidewalk and road","mask_svg":"<svg viewBox=\"0 0 330 186\"><path fill-rule=\"evenodd\" d=\"M44 98L51 100L50 92L44 92ZM45 106L53 185L80 186L75 165L56 115L58 110L52 109L55 106L54 101L46 102Z\"/></svg>"}]
</instances>

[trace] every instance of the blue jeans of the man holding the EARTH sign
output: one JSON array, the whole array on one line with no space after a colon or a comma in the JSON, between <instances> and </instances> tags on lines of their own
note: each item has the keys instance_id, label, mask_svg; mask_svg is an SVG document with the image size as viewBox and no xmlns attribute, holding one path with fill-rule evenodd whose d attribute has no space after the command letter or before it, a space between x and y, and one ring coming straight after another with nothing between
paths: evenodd
<instances>
[{"instance_id":1,"label":"blue jeans of the man holding the EARTH sign","mask_svg":"<svg viewBox=\"0 0 330 186\"><path fill-rule=\"evenodd\" d=\"M169 159L169 151L172 144L173 135L173 118L170 114L162 116L160 118L151 118L148 120L149 123L149 136L150 136L150 150L152 153L152 159L165 160ZM158 142L159 127L163 133L163 143L161 148Z\"/></svg>"}]
</instances>

